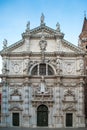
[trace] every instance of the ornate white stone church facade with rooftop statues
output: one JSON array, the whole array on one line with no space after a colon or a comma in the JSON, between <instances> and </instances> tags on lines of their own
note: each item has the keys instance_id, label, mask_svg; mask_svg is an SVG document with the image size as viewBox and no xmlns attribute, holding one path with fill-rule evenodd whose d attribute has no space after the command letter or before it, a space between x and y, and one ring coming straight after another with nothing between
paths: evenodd
<instances>
[{"instance_id":1,"label":"ornate white stone church facade with rooftop statues","mask_svg":"<svg viewBox=\"0 0 87 130\"><path fill-rule=\"evenodd\" d=\"M11 46L3 42L2 126L85 127L85 51L56 29L30 29Z\"/></svg>"}]
</instances>

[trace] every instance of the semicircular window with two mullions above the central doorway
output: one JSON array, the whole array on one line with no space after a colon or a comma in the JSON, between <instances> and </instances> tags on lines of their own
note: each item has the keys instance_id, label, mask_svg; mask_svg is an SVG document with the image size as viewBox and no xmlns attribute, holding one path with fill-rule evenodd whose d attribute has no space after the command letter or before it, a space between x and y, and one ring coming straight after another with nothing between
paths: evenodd
<instances>
[{"instance_id":1,"label":"semicircular window with two mullions above the central doorway","mask_svg":"<svg viewBox=\"0 0 87 130\"><path fill-rule=\"evenodd\" d=\"M32 69L31 75L54 75L54 70L50 65L41 63Z\"/></svg>"}]
</instances>

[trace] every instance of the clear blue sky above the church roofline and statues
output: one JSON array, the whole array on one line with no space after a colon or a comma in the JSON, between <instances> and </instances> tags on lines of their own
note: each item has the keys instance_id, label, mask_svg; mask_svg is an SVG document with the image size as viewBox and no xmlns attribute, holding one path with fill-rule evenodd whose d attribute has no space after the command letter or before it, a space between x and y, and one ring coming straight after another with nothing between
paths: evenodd
<instances>
[{"instance_id":1,"label":"clear blue sky above the church roofline and statues","mask_svg":"<svg viewBox=\"0 0 87 130\"><path fill-rule=\"evenodd\" d=\"M39 26L42 12L47 26L55 29L59 22L64 38L77 45L84 11L87 0L0 0L0 50L4 38L8 45L22 38L28 21L31 29Z\"/></svg>"}]
</instances>

